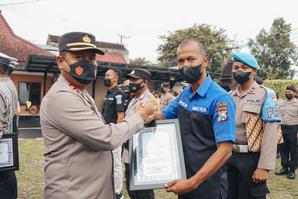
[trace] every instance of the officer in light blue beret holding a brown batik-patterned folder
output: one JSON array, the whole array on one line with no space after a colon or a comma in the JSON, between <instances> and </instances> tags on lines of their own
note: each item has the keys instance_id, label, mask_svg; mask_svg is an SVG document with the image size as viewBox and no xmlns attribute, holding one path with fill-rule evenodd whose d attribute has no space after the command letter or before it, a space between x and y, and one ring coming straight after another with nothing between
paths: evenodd
<instances>
[{"instance_id":1,"label":"officer in light blue beret holding a brown batik-patterned folder","mask_svg":"<svg viewBox=\"0 0 298 199\"><path fill-rule=\"evenodd\" d=\"M274 171L281 121L277 97L272 89L253 80L259 69L254 56L232 53L233 76L238 87L231 91L235 100L235 144L226 161L228 198L266 198L266 180Z\"/></svg>"}]
</instances>

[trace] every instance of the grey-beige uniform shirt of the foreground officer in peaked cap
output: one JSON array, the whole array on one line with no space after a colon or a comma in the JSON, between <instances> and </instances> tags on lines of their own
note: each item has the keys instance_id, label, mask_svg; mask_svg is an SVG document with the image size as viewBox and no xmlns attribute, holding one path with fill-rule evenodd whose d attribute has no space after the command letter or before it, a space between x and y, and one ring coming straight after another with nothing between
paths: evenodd
<instances>
[{"instance_id":1,"label":"grey-beige uniform shirt of the foreground officer in peaked cap","mask_svg":"<svg viewBox=\"0 0 298 199\"><path fill-rule=\"evenodd\" d=\"M41 102L44 140L44 198L115 198L113 156L143 128L139 114L105 124L86 90L62 76Z\"/></svg>"}]
</instances>

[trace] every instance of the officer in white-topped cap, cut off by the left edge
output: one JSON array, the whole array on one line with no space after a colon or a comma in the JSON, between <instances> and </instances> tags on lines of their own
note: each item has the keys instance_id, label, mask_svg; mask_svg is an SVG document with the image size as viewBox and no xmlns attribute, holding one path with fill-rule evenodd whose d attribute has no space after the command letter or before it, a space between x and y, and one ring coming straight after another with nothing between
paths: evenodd
<instances>
[{"instance_id":1,"label":"officer in white-topped cap, cut off by the left edge","mask_svg":"<svg viewBox=\"0 0 298 199\"><path fill-rule=\"evenodd\" d=\"M9 132L9 124L15 114L15 106L13 93L7 86L6 74L10 62L16 62L15 58L11 58L0 53L0 140L3 133ZM18 197L17 179L15 172L0 173L0 194L1 198L14 199Z\"/></svg>"}]
</instances>

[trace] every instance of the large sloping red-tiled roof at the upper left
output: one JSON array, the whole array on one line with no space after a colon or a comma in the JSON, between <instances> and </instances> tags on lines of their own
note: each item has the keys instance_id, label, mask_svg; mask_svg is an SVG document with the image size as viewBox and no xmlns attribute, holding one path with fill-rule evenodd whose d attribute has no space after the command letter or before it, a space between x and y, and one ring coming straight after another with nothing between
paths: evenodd
<instances>
[{"instance_id":1,"label":"large sloping red-tiled roof at the upper left","mask_svg":"<svg viewBox=\"0 0 298 199\"><path fill-rule=\"evenodd\" d=\"M47 50L15 35L0 10L0 52L19 61L27 61L29 55L55 56Z\"/></svg>"}]
</instances>

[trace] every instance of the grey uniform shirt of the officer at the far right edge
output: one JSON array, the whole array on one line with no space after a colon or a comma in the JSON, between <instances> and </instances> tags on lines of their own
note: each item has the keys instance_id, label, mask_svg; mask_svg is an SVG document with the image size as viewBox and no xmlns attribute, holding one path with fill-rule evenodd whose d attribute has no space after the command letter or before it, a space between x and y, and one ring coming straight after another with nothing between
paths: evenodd
<instances>
[{"instance_id":1,"label":"grey uniform shirt of the officer at the far right edge","mask_svg":"<svg viewBox=\"0 0 298 199\"><path fill-rule=\"evenodd\" d=\"M281 125L297 125L298 124L298 100L294 101L281 101L279 103Z\"/></svg>"}]
</instances>

